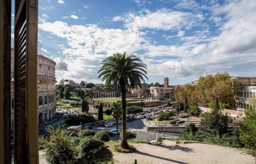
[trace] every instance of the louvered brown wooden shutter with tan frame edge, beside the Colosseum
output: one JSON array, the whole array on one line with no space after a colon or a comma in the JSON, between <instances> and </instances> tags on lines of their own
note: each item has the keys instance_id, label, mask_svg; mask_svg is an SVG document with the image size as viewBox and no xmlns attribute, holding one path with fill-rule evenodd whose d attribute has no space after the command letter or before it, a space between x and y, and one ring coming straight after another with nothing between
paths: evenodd
<instances>
[{"instance_id":1,"label":"louvered brown wooden shutter with tan frame edge, beside the Colosseum","mask_svg":"<svg viewBox=\"0 0 256 164\"><path fill-rule=\"evenodd\" d=\"M38 0L15 1L15 163L39 163L37 115Z\"/></svg>"}]
</instances>

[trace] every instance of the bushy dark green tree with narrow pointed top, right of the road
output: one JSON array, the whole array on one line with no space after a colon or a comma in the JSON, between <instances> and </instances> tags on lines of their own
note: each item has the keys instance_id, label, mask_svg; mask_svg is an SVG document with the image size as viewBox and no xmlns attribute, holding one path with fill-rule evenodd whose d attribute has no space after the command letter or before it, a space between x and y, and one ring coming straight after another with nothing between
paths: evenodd
<instances>
[{"instance_id":1,"label":"bushy dark green tree with narrow pointed top, right of the road","mask_svg":"<svg viewBox=\"0 0 256 164\"><path fill-rule=\"evenodd\" d=\"M228 131L231 118L228 113L223 113L218 106L218 98L211 112L205 112L201 119L202 130L211 134L222 135Z\"/></svg>"}]
</instances>

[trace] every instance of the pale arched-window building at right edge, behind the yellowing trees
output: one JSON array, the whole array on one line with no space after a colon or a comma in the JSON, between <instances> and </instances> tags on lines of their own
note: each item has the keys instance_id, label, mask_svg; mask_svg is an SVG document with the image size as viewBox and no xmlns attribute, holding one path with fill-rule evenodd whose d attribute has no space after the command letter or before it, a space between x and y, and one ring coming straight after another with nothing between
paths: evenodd
<instances>
[{"instance_id":1,"label":"pale arched-window building at right edge, behind the yellowing trees","mask_svg":"<svg viewBox=\"0 0 256 164\"><path fill-rule=\"evenodd\" d=\"M256 77L232 77L231 79L237 79L243 85L243 91L237 95L236 108L251 107L249 101L256 97Z\"/></svg>"}]
</instances>

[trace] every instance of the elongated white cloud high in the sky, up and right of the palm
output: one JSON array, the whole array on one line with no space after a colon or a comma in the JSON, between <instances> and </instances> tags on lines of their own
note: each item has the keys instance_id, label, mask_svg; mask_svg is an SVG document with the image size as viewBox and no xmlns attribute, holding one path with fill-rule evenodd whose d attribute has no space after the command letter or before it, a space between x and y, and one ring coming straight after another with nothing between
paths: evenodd
<instances>
[{"instance_id":1,"label":"elongated white cloud high in the sky, up and right of the palm","mask_svg":"<svg viewBox=\"0 0 256 164\"><path fill-rule=\"evenodd\" d=\"M202 15L200 14L161 9L156 12L142 10L138 14L126 14L124 22L125 27L133 30L177 30L181 28L191 29L193 26L200 26L201 20Z\"/></svg>"}]
</instances>

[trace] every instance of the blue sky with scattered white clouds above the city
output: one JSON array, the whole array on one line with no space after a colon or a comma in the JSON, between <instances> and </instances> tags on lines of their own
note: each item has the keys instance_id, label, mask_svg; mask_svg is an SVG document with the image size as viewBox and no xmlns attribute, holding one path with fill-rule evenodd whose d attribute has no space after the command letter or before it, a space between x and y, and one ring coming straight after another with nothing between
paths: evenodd
<instances>
[{"instance_id":1,"label":"blue sky with scattered white clouds above the city","mask_svg":"<svg viewBox=\"0 0 256 164\"><path fill-rule=\"evenodd\" d=\"M147 83L256 76L256 0L39 0L38 53L55 76L99 83L99 63L134 53Z\"/></svg>"}]
</instances>

